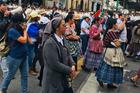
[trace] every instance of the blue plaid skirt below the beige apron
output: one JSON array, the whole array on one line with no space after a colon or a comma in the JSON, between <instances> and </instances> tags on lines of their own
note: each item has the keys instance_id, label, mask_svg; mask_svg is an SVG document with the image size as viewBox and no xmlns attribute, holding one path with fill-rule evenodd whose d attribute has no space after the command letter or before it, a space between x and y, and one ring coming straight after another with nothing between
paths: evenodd
<instances>
[{"instance_id":1,"label":"blue plaid skirt below the beige apron","mask_svg":"<svg viewBox=\"0 0 140 93\"><path fill-rule=\"evenodd\" d=\"M112 67L103 61L96 71L96 77L103 83L121 84L123 82L123 68Z\"/></svg>"}]
</instances>

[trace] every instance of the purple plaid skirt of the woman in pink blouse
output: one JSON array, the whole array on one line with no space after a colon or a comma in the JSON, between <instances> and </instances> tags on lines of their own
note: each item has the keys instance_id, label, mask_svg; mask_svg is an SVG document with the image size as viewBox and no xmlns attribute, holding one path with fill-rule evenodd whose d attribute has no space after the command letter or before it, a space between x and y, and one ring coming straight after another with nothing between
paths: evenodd
<instances>
[{"instance_id":1,"label":"purple plaid skirt of the woman in pink blouse","mask_svg":"<svg viewBox=\"0 0 140 93\"><path fill-rule=\"evenodd\" d=\"M94 53L89 50L85 53L85 66L88 69L98 68L100 61L102 60L102 54Z\"/></svg>"}]
</instances>

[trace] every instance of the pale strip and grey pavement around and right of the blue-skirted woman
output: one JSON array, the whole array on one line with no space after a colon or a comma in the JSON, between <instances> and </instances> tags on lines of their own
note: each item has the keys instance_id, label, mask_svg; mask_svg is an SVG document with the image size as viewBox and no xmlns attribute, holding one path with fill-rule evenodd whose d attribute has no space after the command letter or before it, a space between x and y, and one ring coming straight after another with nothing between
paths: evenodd
<instances>
[{"instance_id":1,"label":"pale strip and grey pavement around and right of the blue-skirted woman","mask_svg":"<svg viewBox=\"0 0 140 93\"><path fill-rule=\"evenodd\" d=\"M140 87L134 87L130 82L130 77L140 68L140 61L128 61L127 63L128 66L125 67L124 70L124 83L117 89L108 89L107 87L101 88L97 83L95 73L93 72L85 82L83 82L81 85L82 87L77 91L77 93L140 93Z\"/></svg>"}]
</instances>

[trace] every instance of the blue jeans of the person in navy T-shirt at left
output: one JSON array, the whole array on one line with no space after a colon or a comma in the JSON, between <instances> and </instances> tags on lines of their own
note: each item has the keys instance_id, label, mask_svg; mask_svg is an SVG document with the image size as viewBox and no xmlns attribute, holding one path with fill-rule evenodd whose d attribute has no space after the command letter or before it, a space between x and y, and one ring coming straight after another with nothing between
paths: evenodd
<instances>
[{"instance_id":1,"label":"blue jeans of the person in navy T-shirt at left","mask_svg":"<svg viewBox=\"0 0 140 93\"><path fill-rule=\"evenodd\" d=\"M10 69L4 77L0 90L2 90L4 93L7 91L8 86L15 76L18 68L20 69L21 73L21 93L28 93L28 63L27 63L27 57L23 57L20 59L15 59L10 56L7 57L8 62L8 69Z\"/></svg>"}]
</instances>

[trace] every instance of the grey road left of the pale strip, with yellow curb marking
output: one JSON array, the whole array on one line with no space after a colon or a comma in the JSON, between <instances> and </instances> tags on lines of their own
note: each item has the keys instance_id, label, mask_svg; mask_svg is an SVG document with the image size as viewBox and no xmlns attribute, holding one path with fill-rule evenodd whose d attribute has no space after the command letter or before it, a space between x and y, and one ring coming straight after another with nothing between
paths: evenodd
<instances>
[{"instance_id":1,"label":"grey road left of the pale strip, with yellow curb marking","mask_svg":"<svg viewBox=\"0 0 140 93\"><path fill-rule=\"evenodd\" d=\"M85 73L84 71L80 71L80 65L82 65L83 58L80 58L78 61L78 72L77 78L73 81L73 89L74 91L77 91L79 86L81 85L82 81L85 80L88 73ZM37 68L40 69L39 64L37 64ZM39 81L37 77L29 76L29 92L30 93L40 93L41 88L38 86ZM2 81L2 72L0 69L0 83ZM15 79L12 80L12 82L9 85L8 92L7 93L20 93L20 74L19 71L16 73Z\"/></svg>"}]
</instances>

